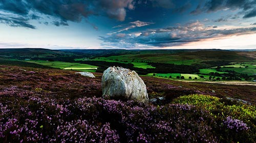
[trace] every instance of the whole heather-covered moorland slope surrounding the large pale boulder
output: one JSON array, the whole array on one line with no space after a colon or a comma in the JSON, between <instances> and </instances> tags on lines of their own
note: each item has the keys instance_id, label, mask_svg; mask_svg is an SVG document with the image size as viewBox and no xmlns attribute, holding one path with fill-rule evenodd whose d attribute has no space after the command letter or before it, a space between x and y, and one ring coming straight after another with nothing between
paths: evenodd
<instances>
[{"instance_id":1,"label":"whole heather-covered moorland slope surrounding the large pale boulder","mask_svg":"<svg viewBox=\"0 0 256 143\"><path fill-rule=\"evenodd\" d=\"M3 142L254 142L256 139L254 86L239 89L142 77L150 98L166 98L159 104L144 104L102 98L101 73L89 78L58 69L0 66L0 70ZM216 88L216 92L204 86ZM250 94L252 104L226 99L226 91L241 97Z\"/></svg>"}]
</instances>

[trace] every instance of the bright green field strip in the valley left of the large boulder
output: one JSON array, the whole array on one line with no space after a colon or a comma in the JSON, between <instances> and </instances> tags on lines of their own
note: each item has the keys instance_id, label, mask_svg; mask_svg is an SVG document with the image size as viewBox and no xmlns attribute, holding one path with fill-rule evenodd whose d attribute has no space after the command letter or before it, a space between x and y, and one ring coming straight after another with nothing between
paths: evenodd
<instances>
[{"instance_id":1,"label":"bright green field strip in the valley left of the large boulder","mask_svg":"<svg viewBox=\"0 0 256 143\"><path fill-rule=\"evenodd\" d=\"M77 70L77 71L88 71L88 72L96 72L97 66L92 66L88 64L80 64L80 63L68 63L68 62L49 62L49 61L26 61L29 63L35 63L39 65L49 66L53 68L60 68L64 70Z\"/></svg>"}]
</instances>

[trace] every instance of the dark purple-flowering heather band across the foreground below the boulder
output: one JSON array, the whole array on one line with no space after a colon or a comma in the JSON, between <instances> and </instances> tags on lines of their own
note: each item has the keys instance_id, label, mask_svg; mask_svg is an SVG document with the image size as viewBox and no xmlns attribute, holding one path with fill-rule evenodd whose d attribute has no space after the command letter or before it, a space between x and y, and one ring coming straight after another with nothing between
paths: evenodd
<instances>
[{"instance_id":1,"label":"dark purple-flowering heather band across the foreground below the boulder","mask_svg":"<svg viewBox=\"0 0 256 143\"><path fill-rule=\"evenodd\" d=\"M0 138L5 142L240 141L236 135L250 138L253 128L231 117L220 121L200 106L188 104L30 97L0 106Z\"/></svg>"}]
</instances>

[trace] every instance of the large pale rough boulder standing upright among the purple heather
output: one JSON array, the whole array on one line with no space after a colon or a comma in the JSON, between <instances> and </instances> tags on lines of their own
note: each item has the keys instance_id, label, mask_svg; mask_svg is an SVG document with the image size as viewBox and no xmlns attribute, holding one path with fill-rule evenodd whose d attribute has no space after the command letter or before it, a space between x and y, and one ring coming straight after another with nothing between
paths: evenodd
<instances>
[{"instance_id":1,"label":"large pale rough boulder standing upright among the purple heather","mask_svg":"<svg viewBox=\"0 0 256 143\"><path fill-rule=\"evenodd\" d=\"M148 103L146 85L135 71L109 67L102 76L102 96Z\"/></svg>"}]
</instances>

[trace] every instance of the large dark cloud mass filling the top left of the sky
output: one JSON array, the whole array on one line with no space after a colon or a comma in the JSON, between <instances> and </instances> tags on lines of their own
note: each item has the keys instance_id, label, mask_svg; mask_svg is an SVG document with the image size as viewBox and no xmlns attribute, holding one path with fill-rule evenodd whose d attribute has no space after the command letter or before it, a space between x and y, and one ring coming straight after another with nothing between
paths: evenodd
<instances>
[{"instance_id":1,"label":"large dark cloud mass filling the top left of the sky","mask_svg":"<svg viewBox=\"0 0 256 143\"><path fill-rule=\"evenodd\" d=\"M38 19L37 15L29 15L30 12L37 12L56 17L62 21L74 22L80 22L82 18L87 18L90 15L103 15L123 21L126 16L126 11L133 10L134 5L134 0L0 0L0 10L18 15L24 19ZM11 17L10 20L12 20ZM23 20L20 22L23 22ZM67 25L65 23L53 23L55 25ZM25 26L28 28L33 27L30 24L20 24L20 26ZM96 26L94 26L94 28L96 28Z\"/></svg>"}]
</instances>

